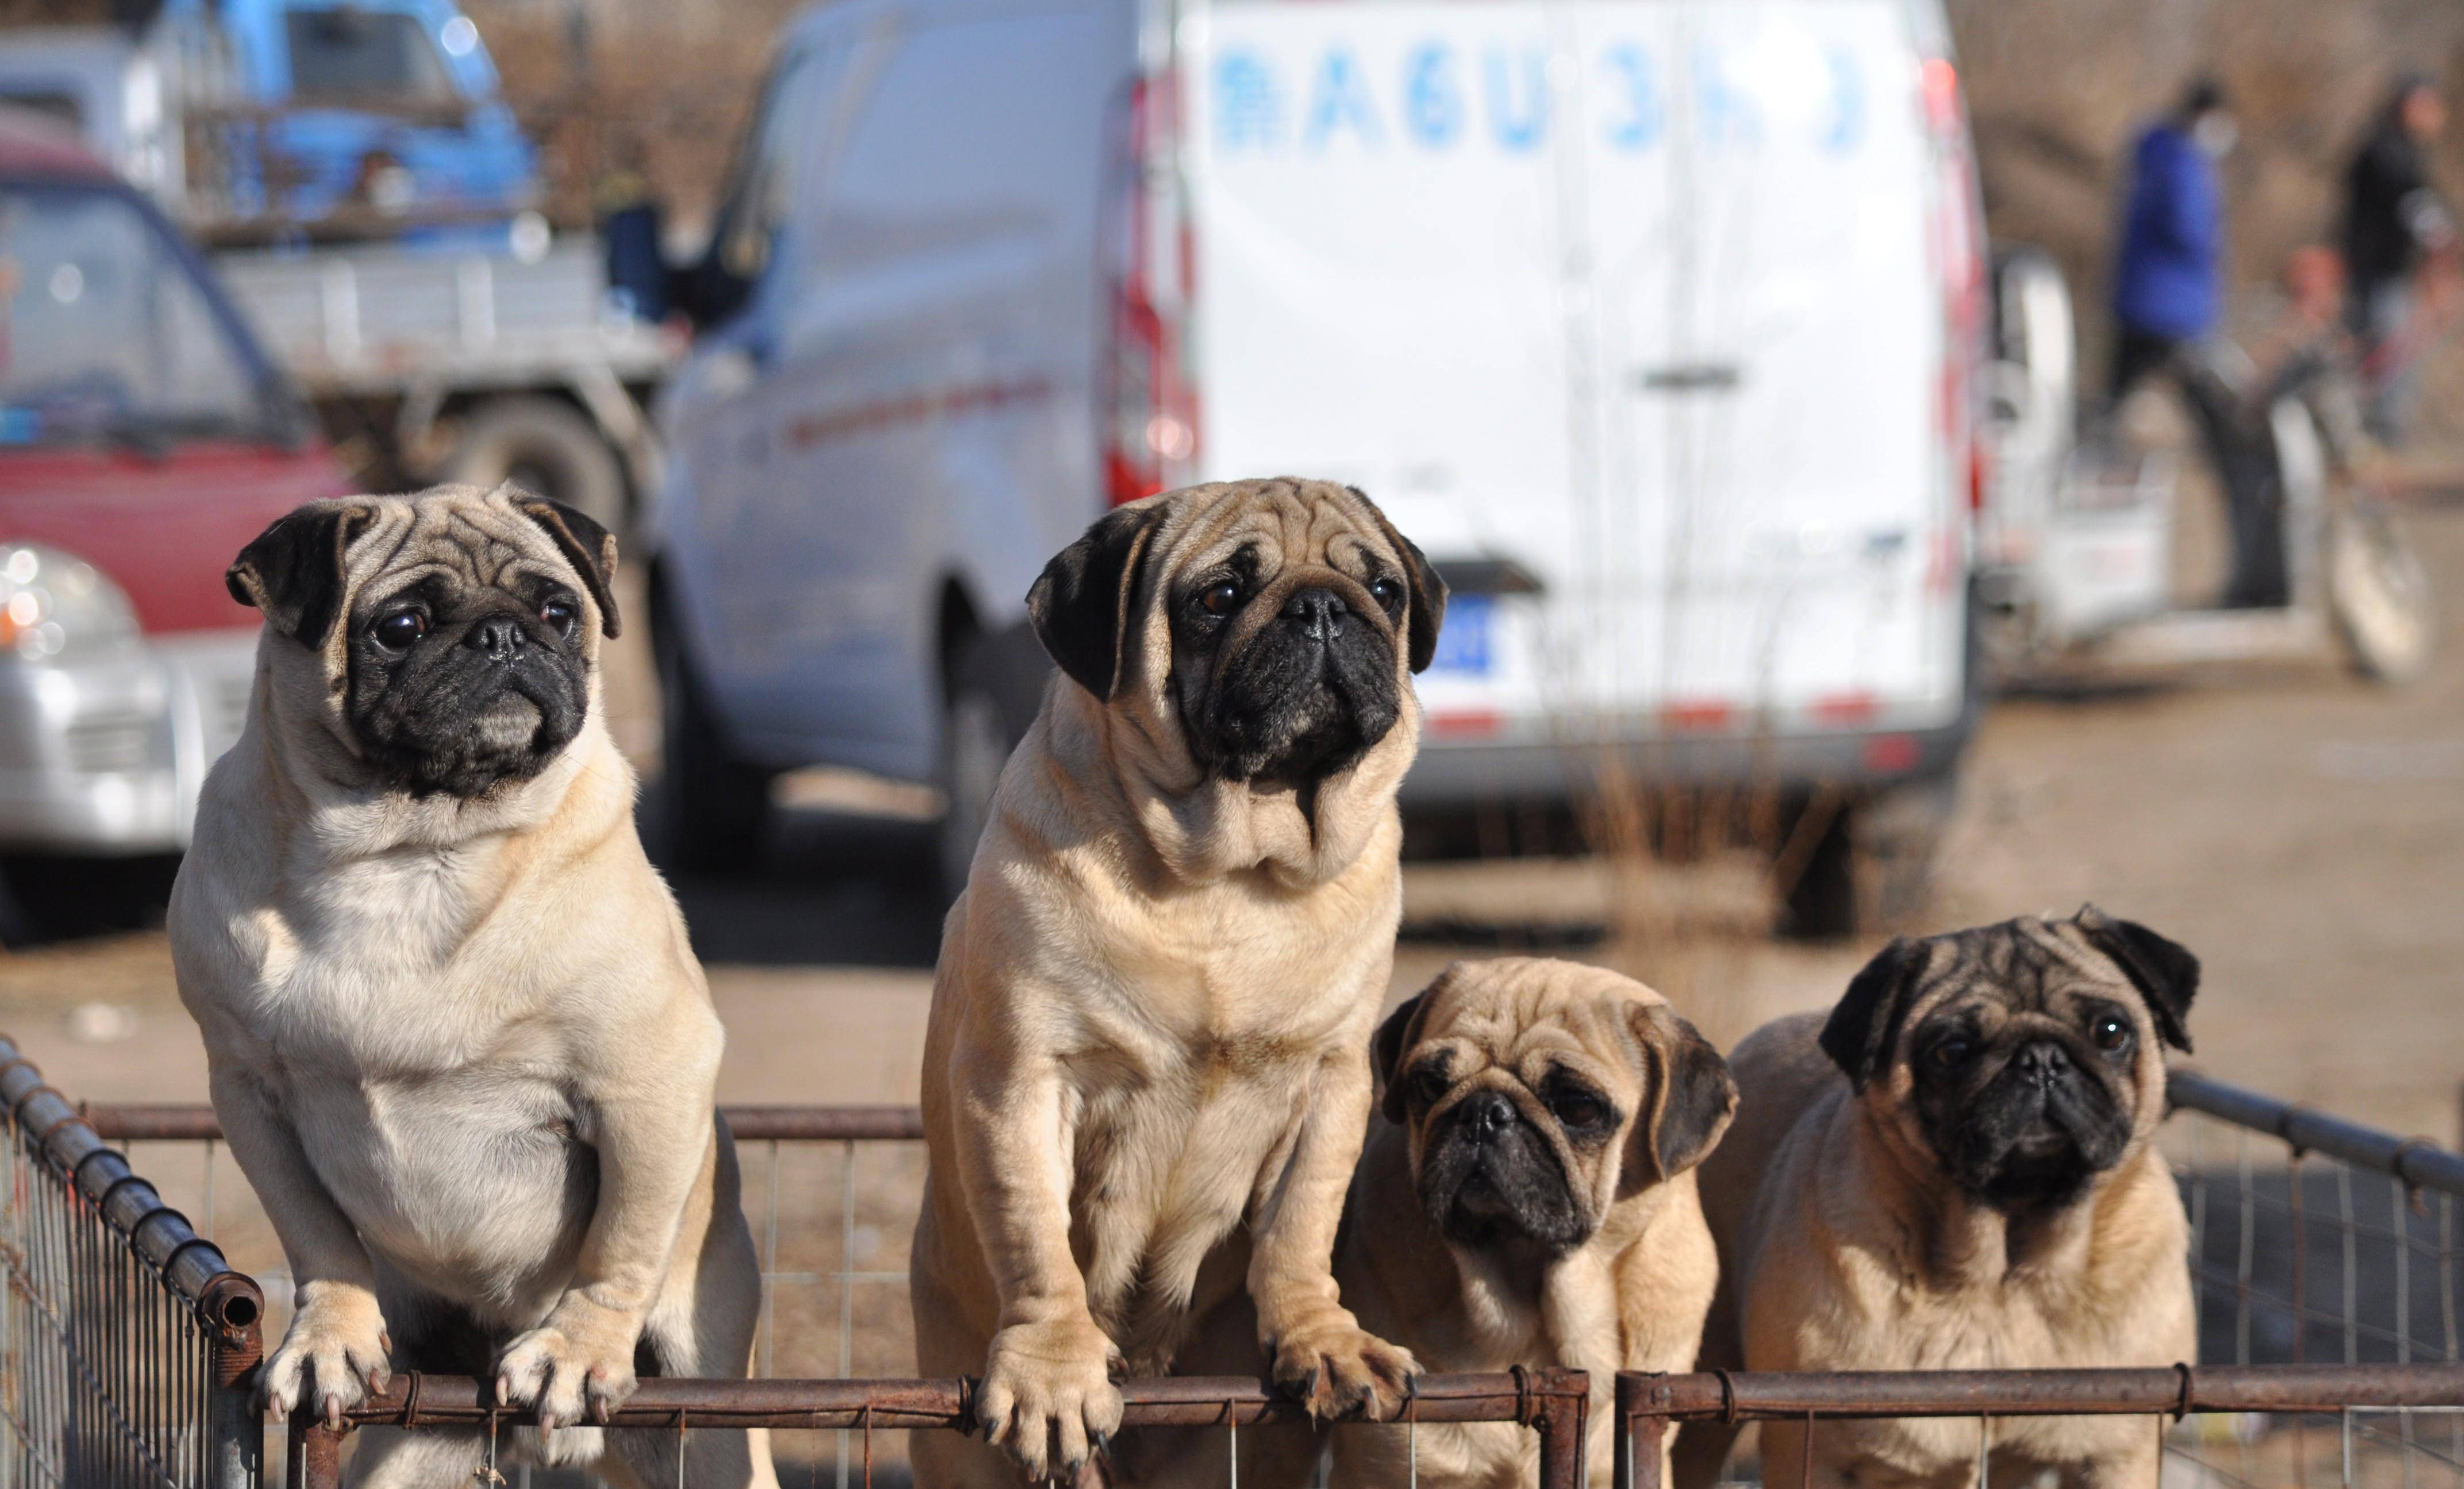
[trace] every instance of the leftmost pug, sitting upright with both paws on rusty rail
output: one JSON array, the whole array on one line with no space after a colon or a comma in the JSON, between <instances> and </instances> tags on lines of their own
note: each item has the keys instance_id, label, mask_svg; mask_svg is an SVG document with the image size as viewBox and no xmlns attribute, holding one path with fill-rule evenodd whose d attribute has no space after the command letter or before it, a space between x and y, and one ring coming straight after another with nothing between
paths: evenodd
<instances>
[{"instance_id":1,"label":"leftmost pug, sitting upright with both paws on rusty rail","mask_svg":"<svg viewBox=\"0 0 2464 1489\"><path fill-rule=\"evenodd\" d=\"M614 572L596 523L515 488L266 528L229 569L266 616L249 722L170 944L291 1260L276 1420L330 1420L392 1368L495 1376L540 1413L535 1462L665 1484L673 1432L586 1422L643 1373L742 1376L761 1275L712 1112L719 1021L601 720ZM375 1487L468 1482L483 1454L362 1437ZM695 1432L690 1464L774 1484L742 1432Z\"/></svg>"}]
</instances>

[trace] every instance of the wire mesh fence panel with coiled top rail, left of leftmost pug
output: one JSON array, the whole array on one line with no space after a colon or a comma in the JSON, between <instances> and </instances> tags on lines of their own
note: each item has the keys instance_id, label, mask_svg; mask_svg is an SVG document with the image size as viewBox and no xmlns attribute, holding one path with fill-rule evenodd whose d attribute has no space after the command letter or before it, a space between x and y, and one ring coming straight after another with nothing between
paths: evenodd
<instances>
[{"instance_id":1,"label":"wire mesh fence panel with coiled top rail, left of leftmost pug","mask_svg":"<svg viewBox=\"0 0 2464 1489\"><path fill-rule=\"evenodd\" d=\"M264 1294L0 1038L0 1487L251 1489Z\"/></svg>"}]
</instances>

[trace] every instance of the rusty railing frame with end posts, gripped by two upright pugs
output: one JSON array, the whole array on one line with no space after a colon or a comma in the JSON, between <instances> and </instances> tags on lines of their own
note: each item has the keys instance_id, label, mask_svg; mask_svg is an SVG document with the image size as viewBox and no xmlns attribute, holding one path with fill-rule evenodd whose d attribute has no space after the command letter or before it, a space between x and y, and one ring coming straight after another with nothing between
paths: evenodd
<instances>
[{"instance_id":1,"label":"rusty railing frame with end posts, gripped by two upright pugs","mask_svg":"<svg viewBox=\"0 0 2464 1489\"><path fill-rule=\"evenodd\" d=\"M872 1489L872 1435L890 1430L973 1427L971 1381L643 1381L611 1427L675 1432L675 1484L685 1489L687 1432L747 1427L838 1427L862 1435L862 1484ZM1259 1422L1301 1422L1306 1413L1262 1381L1234 1376L1173 1376L1121 1385L1124 1427L1222 1430L1239 1457L1239 1430ZM1582 1489L1584 1425L1592 1388L1582 1371L1513 1371L1501 1376L1422 1376L1409 1400L1414 1425L1520 1422L1538 1435L1540 1489ZM291 1420L288 1489L335 1489L342 1442L357 1427L485 1430L532 1425L530 1413L498 1410L468 1376L397 1376L384 1395L352 1413L340 1430L306 1413ZM1345 1427L1338 1425L1338 1432ZM1200 1452L1200 1445L1190 1447ZM493 1462L485 1472L493 1469ZM1232 1482L1239 1482L1237 1469Z\"/></svg>"}]
</instances>

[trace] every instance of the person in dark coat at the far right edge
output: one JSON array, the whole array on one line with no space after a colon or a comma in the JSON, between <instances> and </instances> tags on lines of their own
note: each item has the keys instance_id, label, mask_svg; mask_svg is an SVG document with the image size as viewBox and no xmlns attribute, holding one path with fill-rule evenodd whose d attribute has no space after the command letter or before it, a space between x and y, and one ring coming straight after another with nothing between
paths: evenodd
<instances>
[{"instance_id":1,"label":"person in dark coat at the far right edge","mask_svg":"<svg viewBox=\"0 0 2464 1489\"><path fill-rule=\"evenodd\" d=\"M2361 343L2370 431L2402 444L2422 343L2422 269L2449 254L2454 214L2430 182L2422 148L2447 128L2447 99L2420 74L2388 94L2343 173L2346 316Z\"/></svg>"}]
</instances>

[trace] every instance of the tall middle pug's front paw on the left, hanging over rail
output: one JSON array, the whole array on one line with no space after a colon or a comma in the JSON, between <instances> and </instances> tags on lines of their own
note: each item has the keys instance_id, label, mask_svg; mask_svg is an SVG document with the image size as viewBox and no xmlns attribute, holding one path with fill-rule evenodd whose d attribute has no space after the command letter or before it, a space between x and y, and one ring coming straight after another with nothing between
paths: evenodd
<instances>
[{"instance_id":1,"label":"tall middle pug's front paw on the left, hanging over rail","mask_svg":"<svg viewBox=\"0 0 2464 1489\"><path fill-rule=\"evenodd\" d=\"M1027 1479L1077 1479L1092 1452L1121 1430L1114 1385L1121 1351L1094 1319L1010 1324L993 1336L976 1393L986 1442L1008 1447Z\"/></svg>"}]
</instances>

